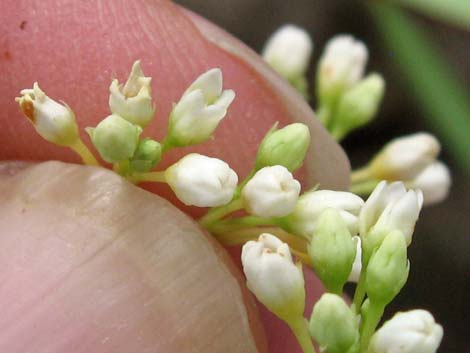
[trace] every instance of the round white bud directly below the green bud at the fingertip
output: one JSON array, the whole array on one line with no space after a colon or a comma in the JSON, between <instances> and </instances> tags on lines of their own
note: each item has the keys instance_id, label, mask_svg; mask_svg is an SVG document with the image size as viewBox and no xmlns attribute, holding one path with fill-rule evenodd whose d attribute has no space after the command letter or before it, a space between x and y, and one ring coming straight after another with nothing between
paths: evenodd
<instances>
[{"instance_id":1,"label":"round white bud directly below the green bud at the fingertip","mask_svg":"<svg viewBox=\"0 0 470 353\"><path fill-rule=\"evenodd\" d=\"M282 217L294 210L300 183L283 166L260 169L242 190L245 209L259 217Z\"/></svg>"}]
</instances>

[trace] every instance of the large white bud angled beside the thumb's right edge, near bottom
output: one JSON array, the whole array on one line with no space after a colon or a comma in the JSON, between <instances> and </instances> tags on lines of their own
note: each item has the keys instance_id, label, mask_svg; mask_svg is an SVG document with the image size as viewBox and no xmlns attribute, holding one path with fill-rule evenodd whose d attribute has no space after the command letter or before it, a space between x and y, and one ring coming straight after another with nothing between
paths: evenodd
<instances>
[{"instance_id":1,"label":"large white bud angled beside the thumb's right edge, near bottom","mask_svg":"<svg viewBox=\"0 0 470 353\"><path fill-rule=\"evenodd\" d=\"M302 267L293 263L287 244L264 233L243 246L241 259L247 286L261 303L284 321L303 317Z\"/></svg>"}]
</instances>

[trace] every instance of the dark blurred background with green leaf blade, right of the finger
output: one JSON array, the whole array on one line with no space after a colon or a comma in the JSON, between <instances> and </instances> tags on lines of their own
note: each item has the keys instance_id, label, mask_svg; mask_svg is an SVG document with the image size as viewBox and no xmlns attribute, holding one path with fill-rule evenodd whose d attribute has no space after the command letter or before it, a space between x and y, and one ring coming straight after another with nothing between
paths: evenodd
<instances>
[{"instance_id":1,"label":"dark blurred background with green leaf blade, right of the finger","mask_svg":"<svg viewBox=\"0 0 470 353\"><path fill-rule=\"evenodd\" d=\"M384 75L377 119L342 143L354 168L393 137L429 131L449 165L449 198L423 210L411 245L408 284L390 305L430 310L445 329L439 352L470 353L470 1L178 0L260 52L279 26L314 39L314 67L325 42L351 33L370 52L368 71Z\"/></svg>"}]
</instances>

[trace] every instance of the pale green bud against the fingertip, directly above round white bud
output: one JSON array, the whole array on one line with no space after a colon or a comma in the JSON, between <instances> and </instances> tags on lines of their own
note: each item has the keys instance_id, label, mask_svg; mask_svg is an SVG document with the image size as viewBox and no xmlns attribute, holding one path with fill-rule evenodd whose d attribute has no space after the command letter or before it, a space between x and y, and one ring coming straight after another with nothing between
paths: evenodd
<instances>
[{"instance_id":1,"label":"pale green bud against the fingertip, directly above round white bud","mask_svg":"<svg viewBox=\"0 0 470 353\"><path fill-rule=\"evenodd\" d=\"M277 129L277 123L268 131L256 154L256 170L282 165L290 172L302 166L310 144L307 125L295 123Z\"/></svg>"}]
</instances>

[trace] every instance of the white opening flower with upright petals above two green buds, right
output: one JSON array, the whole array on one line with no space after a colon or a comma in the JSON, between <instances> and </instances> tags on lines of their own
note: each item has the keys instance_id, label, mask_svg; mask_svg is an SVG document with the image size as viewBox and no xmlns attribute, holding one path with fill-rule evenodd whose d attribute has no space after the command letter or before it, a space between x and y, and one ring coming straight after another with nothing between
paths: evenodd
<instances>
[{"instance_id":1,"label":"white opening flower with upright petals above two green buds, right","mask_svg":"<svg viewBox=\"0 0 470 353\"><path fill-rule=\"evenodd\" d=\"M400 230L409 245L422 206L423 193L420 190L406 191L402 182L380 182L359 215L361 237L367 237L371 232L385 236L393 230Z\"/></svg>"}]
</instances>

